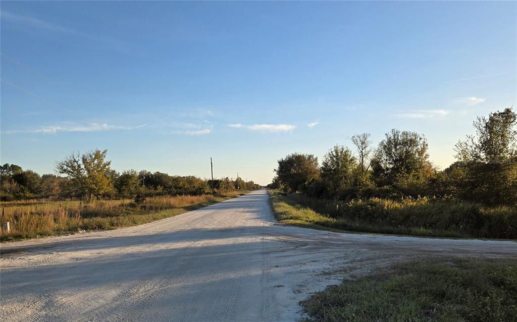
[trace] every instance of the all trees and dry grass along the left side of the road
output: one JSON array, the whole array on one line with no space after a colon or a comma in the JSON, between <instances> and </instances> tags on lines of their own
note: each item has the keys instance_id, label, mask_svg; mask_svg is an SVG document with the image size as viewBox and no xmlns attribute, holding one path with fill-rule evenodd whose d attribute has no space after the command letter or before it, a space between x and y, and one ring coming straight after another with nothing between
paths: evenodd
<instances>
[{"instance_id":1,"label":"all trees and dry grass along the left side of the road","mask_svg":"<svg viewBox=\"0 0 517 322\"><path fill-rule=\"evenodd\" d=\"M120 174L110 168L107 153L72 154L56 163L58 175L2 165L0 240L138 225L262 188L241 178L206 180L134 170ZM10 232L3 229L6 221Z\"/></svg>"}]
</instances>

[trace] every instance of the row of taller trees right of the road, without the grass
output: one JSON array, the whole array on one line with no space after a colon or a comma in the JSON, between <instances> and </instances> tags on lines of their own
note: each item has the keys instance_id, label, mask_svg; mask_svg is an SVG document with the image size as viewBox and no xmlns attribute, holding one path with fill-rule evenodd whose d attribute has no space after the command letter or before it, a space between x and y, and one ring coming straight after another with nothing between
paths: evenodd
<instances>
[{"instance_id":1,"label":"row of taller trees right of the road, without the grass","mask_svg":"<svg viewBox=\"0 0 517 322\"><path fill-rule=\"evenodd\" d=\"M287 155L268 187L338 200L431 196L517 205L517 115L507 108L473 125L475 134L455 145L456 161L443 171L430 161L424 135L392 129L377 146L368 133L353 135L354 150L336 145L321 164L312 154Z\"/></svg>"}]
</instances>

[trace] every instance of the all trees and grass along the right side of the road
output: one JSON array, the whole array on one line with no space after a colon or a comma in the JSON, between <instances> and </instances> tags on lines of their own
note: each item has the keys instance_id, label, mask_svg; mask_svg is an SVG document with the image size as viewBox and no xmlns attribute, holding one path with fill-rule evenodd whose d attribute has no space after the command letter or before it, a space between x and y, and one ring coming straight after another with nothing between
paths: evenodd
<instances>
[{"instance_id":1,"label":"all trees and grass along the right side of the road","mask_svg":"<svg viewBox=\"0 0 517 322\"><path fill-rule=\"evenodd\" d=\"M428 143L396 129L377 147L353 135L355 151L336 145L320 164L313 155L278 161L268 185L285 223L346 231L517 239L517 115L478 117L475 135L439 171Z\"/></svg>"}]
</instances>

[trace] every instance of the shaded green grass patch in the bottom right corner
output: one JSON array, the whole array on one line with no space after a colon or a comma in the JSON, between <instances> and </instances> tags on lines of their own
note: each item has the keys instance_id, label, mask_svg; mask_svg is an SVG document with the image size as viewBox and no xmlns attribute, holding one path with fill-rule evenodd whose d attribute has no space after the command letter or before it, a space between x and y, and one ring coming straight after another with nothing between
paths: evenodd
<instances>
[{"instance_id":1,"label":"shaded green grass patch in the bottom right corner","mask_svg":"<svg viewBox=\"0 0 517 322\"><path fill-rule=\"evenodd\" d=\"M517 321L517 260L398 264L300 304L306 321Z\"/></svg>"}]
</instances>

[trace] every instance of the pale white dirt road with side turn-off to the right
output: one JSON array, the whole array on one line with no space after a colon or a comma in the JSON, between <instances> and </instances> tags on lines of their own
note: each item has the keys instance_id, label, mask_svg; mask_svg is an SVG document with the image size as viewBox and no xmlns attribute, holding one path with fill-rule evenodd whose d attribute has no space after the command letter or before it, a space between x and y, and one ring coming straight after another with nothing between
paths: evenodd
<instances>
[{"instance_id":1,"label":"pale white dirt road with side turn-off to the right","mask_svg":"<svg viewBox=\"0 0 517 322\"><path fill-rule=\"evenodd\" d=\"M517 256L517 243L281 226L261 190L141 226L2 244L1 252L3 321L292 321L299 300L343 277L418 256Z\"/></svg>"}]
</instances>

